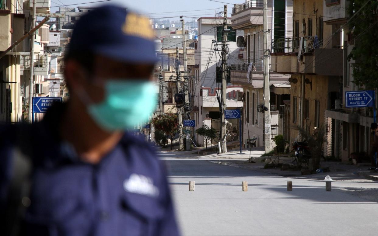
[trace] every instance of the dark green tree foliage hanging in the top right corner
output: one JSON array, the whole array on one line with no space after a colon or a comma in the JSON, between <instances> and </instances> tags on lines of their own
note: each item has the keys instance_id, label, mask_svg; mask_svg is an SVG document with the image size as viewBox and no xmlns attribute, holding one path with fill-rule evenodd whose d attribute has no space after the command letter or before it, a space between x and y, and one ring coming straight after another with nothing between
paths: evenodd
<instances>
[{"instance_id":1,"label":"dark green tree foliage hanging in the top right corner","mask_svg":"<svg viewBox=\"0 0 378 236\"><path fill-rule=\"evenodd\" d=\"M366 5L365 5L366 3ZM350 0L349 23L354 47L348 59L353 65L354 83L367 89L378 88L378 1Z\"/></svg>"}]
</instances>

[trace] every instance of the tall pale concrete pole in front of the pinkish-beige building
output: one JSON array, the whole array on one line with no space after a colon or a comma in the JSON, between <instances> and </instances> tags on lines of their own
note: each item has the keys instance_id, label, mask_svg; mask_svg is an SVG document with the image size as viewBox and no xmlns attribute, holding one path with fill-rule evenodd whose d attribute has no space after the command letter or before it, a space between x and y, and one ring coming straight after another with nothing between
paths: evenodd
<instances>
[{"instance_id":1,"label":"tall pale concrete pole in front of the pinkish-beige building","mask_svg":"<svg viewBox=\"0 0 378 236\"><path fill-rule=\"evenodd\" d=\"M268 0L263 0L263 36L264 36L264 113L265 153L272 150L270 125L270 80L269 80L269 49L268 49ZM270 44L269 44L270 45Z\"/></svg>"}]
</instances>

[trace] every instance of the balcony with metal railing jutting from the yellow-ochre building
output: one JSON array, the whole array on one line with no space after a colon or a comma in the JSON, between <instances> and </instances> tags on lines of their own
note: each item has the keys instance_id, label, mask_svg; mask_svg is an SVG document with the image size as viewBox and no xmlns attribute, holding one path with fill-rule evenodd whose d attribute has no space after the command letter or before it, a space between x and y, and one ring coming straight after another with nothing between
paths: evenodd
<instances>
[{"instance_id":1,"label":"balcony with metal railing jutting from the yellow-ochre building","mask_svg":"<svg viewBox=\"0 0 378 236\"><path fill-rule=\"evenodd\" d=\"M301 42L302 38L303 42ZM302 38L273 40L271 54L273 71L282 74L311 73L342 76L342 49L320 48L314 37ZM301 60L300 63L298 59Z\"/></svg>"}]
</instances>

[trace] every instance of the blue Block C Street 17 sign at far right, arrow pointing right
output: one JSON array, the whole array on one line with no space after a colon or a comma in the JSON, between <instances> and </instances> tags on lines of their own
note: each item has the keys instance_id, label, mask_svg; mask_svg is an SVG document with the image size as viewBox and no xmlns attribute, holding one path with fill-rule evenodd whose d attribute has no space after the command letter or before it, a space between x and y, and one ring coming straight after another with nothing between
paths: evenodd
<instances>
[{"instance_id":1,"label":"blue Block C Street 17 sign at far right, arrow pointing right","mask_svg":"<svg viewBox=\"0 0 378 236\"><path fill-rule=\"evenodd\" d=\"M374 106L374 91L350 91L345 92L346 107Z\"/></svg>"}]
</instances>

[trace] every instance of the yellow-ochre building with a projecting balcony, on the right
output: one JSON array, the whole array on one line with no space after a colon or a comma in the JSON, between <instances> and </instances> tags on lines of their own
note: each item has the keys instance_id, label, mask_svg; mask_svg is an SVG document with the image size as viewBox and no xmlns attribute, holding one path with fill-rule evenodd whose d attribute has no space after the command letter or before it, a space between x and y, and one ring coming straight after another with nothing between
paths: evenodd
<instances>
[{"instance_id":1,"label":"yellow-ochre building with a projecting balcony, on the right","mask_svg":"<svg viewBox=\"0 0 378 236\"><path fill-rule=\"evenodd\" d=\"M307 2L293 1L293 37L274 39L272 45L272 69L291 74L291 102L285 104L290 114L290 125L307 127L310 132L325 129L328 144L325 156L338 156L347 160L338 144L343 135L339 124L332 127L328 111L339 108L344 78L343 24L346 22L345 1ZM342 11L344 15L336 17ZM316 128L315 128L316 127ZM290 142L299 140L295 129L290 131Z\"/></svg>"}]
</instances>

